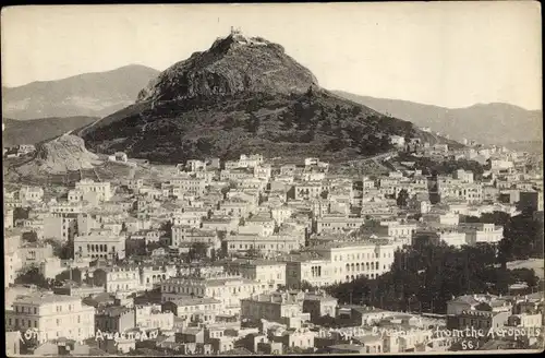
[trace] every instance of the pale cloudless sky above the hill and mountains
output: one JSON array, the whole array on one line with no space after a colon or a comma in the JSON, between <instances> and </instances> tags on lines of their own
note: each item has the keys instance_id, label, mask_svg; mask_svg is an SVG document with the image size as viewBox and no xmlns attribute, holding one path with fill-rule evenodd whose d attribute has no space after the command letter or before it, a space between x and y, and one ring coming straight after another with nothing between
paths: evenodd
<instances>
[{"instance_id":1,"label":"pale cloudless sky above the hill and mountains","mask_svg":"<svg viewBox=\"0 0 545 358\"><path fill-rule=\"evenodd\" d=\"M43 5L2 9L2 85L165 70L240 27L328 90L449 108L542 109L540 3Z\"/></svg>"}]
</instances>

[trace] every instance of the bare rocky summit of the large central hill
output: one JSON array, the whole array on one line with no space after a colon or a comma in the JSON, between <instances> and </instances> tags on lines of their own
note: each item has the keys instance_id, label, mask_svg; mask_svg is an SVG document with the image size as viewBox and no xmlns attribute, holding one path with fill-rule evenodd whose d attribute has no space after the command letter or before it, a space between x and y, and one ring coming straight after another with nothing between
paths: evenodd
<instances>
[{"instance_id":1,"label":"bare rocky summit of the large central hill","mask_svg":"<svg viewBox=\"0 0 545 358\"><path fill-rule=\"evenodd\" d=\"M303 93L316 77L286 55L282 46L231 31L203 52L194 52L152 82L138 102L172 100L238 93Z\"/></svg>"}]
</instances>

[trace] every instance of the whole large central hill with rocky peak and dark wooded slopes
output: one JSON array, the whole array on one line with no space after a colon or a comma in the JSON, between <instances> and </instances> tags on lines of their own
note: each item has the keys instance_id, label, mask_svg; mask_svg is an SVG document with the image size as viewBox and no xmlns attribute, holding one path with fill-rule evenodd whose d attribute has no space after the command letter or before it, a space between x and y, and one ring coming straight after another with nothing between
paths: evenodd
<instances>
[{"instance_id":1,"label":"whole large central hill with rocky peak and dark wooded slopes","mask_svg":"<svg viewBox=\"0 0 545 358\"><path fill-rule=\"evenodd\" d=\"M429 136L320 88L280 45L238 33L172 65L136 104L77 133L89 150L169 164L242 153L348 159L390 151L393 134Z\"/></svg>"}]
</instances>

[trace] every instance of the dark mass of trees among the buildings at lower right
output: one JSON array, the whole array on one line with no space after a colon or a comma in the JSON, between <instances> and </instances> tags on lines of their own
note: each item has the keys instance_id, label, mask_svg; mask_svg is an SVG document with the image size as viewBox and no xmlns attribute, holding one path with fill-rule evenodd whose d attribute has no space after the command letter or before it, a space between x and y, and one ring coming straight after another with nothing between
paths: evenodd
<instances>
[{"instance_id":1,"label":"dark mass of trees among the buildings at lower right","mask_svg":"<svg viewBox=\"0 0 545 358\"><path fill-rule=\"evenodd\" d=\"M420 241L396 252L390 272L328 287L340 302L366 303L392 310L445 313L452 297L471 293L508 294L509 285L537 285L531 270L508 271L497 265L489 244L457 249Z\"/></svg>"}]
</instances>

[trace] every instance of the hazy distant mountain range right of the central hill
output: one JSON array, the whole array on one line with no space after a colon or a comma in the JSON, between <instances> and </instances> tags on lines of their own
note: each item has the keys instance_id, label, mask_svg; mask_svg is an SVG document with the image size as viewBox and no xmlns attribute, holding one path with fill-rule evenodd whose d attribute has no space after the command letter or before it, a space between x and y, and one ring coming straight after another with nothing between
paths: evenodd
<instances>
[{"instance_id":1,"label":"hazy distant mountain range right of the central hill","mask_svg":"<svg viewBox=\"0 0 545 358\"><path fill-rule=\"evenodd\" d=\"M334 91L339 96L367 106L380 114L413 122L451 139L476 140L484 144L542 142L543 111L504 104L477 104L467 108L444 108L408 100L374 98Z\"/></svg>"}]
</instances>

